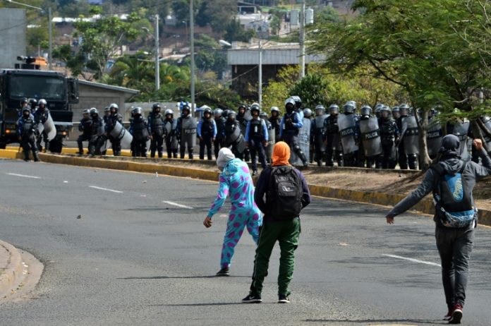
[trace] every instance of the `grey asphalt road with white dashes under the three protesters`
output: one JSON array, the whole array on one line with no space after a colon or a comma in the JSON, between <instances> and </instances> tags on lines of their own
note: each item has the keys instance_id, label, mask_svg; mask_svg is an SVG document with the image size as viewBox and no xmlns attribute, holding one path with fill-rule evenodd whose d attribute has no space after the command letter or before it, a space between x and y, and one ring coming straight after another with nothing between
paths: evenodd
<instances>
[{"instance_id":1,"label":"grey asphalt road with white dashes under the three protesters","mask_svg":"<svg viewBox=\"0 0 491 326\"><path fill-rule=\"evenodd\" d=\"M383 207L315 198L293 303L276 303L275 249L265 303L243 305L254 244L244 234L233 277L212 277L226 219L201 223L215 183L0 160L0 185L0 239L45 264L30 298L0 306L0 325L442 325L446 313L428 217L387 226ZM463 321L488 326L491 229L476 242Z\"/></svg>"}]
</instances>

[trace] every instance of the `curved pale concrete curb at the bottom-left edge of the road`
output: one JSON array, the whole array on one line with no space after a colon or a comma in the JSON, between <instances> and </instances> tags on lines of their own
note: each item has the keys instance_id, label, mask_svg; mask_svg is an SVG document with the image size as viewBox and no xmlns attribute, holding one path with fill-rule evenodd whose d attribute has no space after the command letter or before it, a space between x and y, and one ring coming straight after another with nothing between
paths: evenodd
<instances>
[{"instance_id":1,"label":"curved pale concrete curb at the bottom-left edge of the road","mask_svg":"<svg viewBox=\"0 0 491 326\"><path fill-rule=\"evenodd\" d=\"M20 255L19 250L10 243L1 240L0 246L4 247L10 255L8 264L0 274L0 298L3 298L16 289L20 280L23 279L24 274L22 256Z\"/></svg>"}]
</instances>

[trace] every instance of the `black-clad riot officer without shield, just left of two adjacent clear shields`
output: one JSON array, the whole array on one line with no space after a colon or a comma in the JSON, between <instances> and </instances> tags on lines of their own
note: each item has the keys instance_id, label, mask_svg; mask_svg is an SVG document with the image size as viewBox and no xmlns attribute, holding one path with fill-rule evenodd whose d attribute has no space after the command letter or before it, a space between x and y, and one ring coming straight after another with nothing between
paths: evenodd
<instances>
[{"instance_id":1,"label":"black-clad riot officer without shield, just left of two adjacent clear shields","mask_svg":"<svg viewBox=\"0 0 491 326\"><path fill-rule=\"evenodd\" d=\"M343 149L341 147L341 137L337 123L338 114L339 107L337 104L331 104L329 107L329 116L324 120L327 156L326 167L334 167L334 159L336 159L338 167L344 167Z\"/></svg>"}]
</instances>

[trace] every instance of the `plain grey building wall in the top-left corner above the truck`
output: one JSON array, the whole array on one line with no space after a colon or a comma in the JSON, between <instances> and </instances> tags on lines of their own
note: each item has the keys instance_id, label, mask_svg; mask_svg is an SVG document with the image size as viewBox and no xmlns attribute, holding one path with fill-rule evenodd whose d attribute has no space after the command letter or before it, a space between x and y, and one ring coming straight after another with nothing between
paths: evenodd
<instances>
[{"instance_id":1,"label":"plain grey building wall in the top-left corner above the truck","mask_svg":"<svg viewBox=\"0 0 491 326\"><path fill-rule=\"evenodd\" d=\"M25 10L0 9L0 68L14 68L18 56L25 56L27 41Z\"/></svg>"}]
</instances>

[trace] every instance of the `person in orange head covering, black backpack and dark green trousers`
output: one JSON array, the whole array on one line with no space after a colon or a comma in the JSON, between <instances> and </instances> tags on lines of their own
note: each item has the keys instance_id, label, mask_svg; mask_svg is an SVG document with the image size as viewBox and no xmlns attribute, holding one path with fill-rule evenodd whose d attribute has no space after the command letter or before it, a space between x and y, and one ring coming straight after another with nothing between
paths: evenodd
<instances>
[{"instance_id":1,"label":"person in orange head covering, black backpack and dark green trousers","mask_svg":"<svg viewBox=\"0 0 491 326\"><path fill-rule=\"evenodd\" d=\"M279 242L278 303L289 303L289 284L293 278L295 250L300 235L300 212L310 204L307 182L289 164L290 147L284 142L274 145L272 167L264 169L257 180L254 201L264 213L257 243L253 282L243 303L260 303L274 243Z\"/></svg>"}]
</instances>

